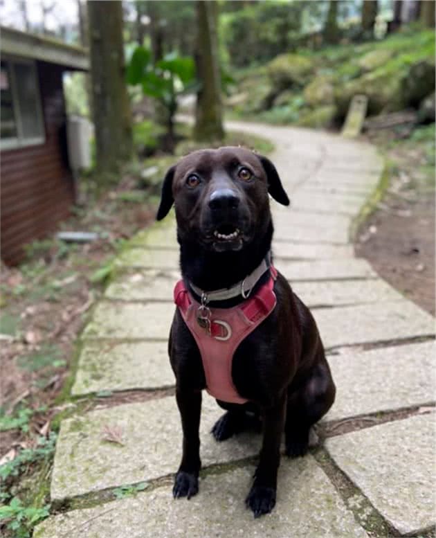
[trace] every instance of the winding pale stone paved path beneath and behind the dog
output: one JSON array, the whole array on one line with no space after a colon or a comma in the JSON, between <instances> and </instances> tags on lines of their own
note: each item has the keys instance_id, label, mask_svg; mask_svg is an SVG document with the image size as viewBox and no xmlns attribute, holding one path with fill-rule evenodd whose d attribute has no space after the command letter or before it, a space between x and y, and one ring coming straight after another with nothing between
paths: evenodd
<instances>
[{"instance_id":1,"label":"winding pale stone paved path beneath and behind the dog","mask_svg":"<svg viewBox=\"0 0 436 538\"><path fill-rule=\"evenodd\" d=\"M273 209L275 264L311 307L329 353L338 395L319 427L327 439L312 455L282 460L277 506L254 520L244 498L260 436L216 443L209 431L221 411L206 396L201 489L189 502L172 499L181 427L166 352L178 276L170 219L120 255L82 334L72 395L85 411L62 421L51 483L54 505L69 510L41 523L37 538L434 532L434 319L354 258L349 242L383 163L373 147L331 134L235 127L276 146L292 208ZM108 429L122 445L104 439ZM113 488L137 484L138 494L114 500Z\"/></svg>"}]
</instances>

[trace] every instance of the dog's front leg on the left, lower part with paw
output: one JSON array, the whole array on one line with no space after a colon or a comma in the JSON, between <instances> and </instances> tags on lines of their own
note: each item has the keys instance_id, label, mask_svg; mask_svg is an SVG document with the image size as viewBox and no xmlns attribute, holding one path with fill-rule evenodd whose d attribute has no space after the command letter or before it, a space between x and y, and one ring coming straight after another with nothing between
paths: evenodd
<instances>
[{"instance_id":1,"label":"dog's front leg on the left, lower part with paw","mask_svg":"<svg viewBox=\"0 0 436 538\"><path fill-rule=\"evenodd\" d=\"M176 400L183 429L183 454L172 494L190 499L199 490L201 391L177 388Z\"/></svg>"}]
</instances>

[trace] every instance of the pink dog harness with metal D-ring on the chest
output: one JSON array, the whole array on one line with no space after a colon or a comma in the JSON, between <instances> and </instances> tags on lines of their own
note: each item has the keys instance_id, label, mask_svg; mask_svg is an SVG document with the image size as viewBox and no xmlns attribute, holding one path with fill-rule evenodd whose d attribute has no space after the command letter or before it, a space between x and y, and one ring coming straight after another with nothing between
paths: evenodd
<instances>
[{"instance_id":1,"label":"pink dog harness with metal D-ring on the chest","mask_svg":"<svg viewBox=\"0 0 436 538\"><path fill-rule=\"evenodd\" d=\"M239 343L274 310L277 299L273 287L277 277L275 267L269 267L271 277L257 293L231 308L212 308L207 302L195 301L183 280L174 288L174 303L201 353L206 390L223 402L244 404L232 380L233 355ZM243 294L244 296L244 294Z\"/></svg>"}]
</instances>

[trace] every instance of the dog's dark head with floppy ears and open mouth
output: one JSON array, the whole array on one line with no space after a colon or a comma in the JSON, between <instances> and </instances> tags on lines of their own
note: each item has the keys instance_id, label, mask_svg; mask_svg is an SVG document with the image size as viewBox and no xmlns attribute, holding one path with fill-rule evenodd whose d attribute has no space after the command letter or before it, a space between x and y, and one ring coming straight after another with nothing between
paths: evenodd
<instances>
[{"instance_id":1,"label":"dog's dark head with floppy ears and open mouth","mask_svg":"<svg viewBox=\"0 0 436 538\"><path fill-rule=\"evenodd\" d=\"M270 195L289 199L269 159L242 147L199 150L168 170L157 219L176 208L179 238L194 238L206 249L239 251L270 224Z\"/></svg>"}]
</instances>

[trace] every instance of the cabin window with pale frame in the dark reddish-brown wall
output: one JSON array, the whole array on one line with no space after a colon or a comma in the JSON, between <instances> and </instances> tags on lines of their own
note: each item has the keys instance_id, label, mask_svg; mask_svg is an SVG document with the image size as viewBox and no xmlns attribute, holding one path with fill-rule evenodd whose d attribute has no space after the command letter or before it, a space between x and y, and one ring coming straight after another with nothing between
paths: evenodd
<instances>
[{"instance_id":1,"label":"cabin window with pale frame in the dark reddish-brown wall","mask_svg":"<svg viewBox=\"0 0 436 538\"><path fill-rule=\"evenodd\" d=\"M1 61L0 102L2 150L44 143L44 124L34 62Z\"/></svg>"}]
</instances>

